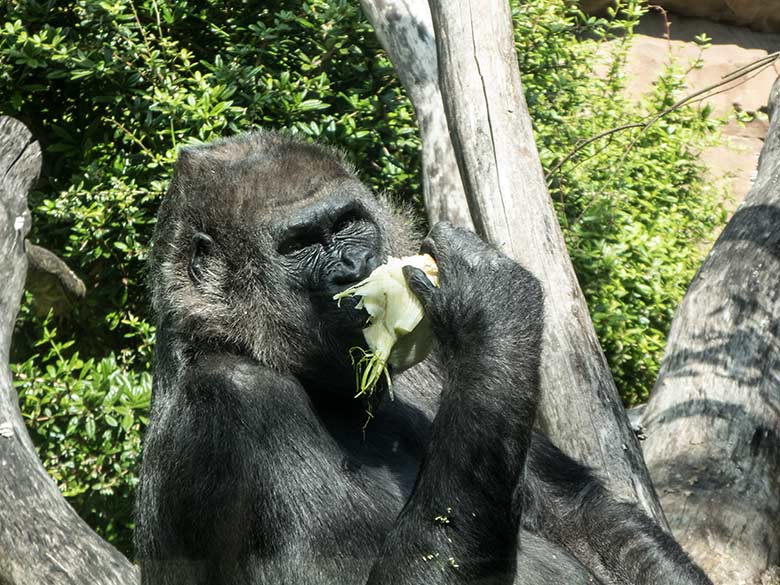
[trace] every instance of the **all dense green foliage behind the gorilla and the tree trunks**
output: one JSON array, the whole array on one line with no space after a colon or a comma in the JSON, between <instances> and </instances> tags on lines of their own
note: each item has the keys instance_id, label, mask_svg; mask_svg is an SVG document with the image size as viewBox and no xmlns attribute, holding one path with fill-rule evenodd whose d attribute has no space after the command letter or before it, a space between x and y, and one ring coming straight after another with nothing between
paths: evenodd
<instances>
[{"instance_id":1,"label":"all dense green foliage behind the gorilla and the tree trunks","mask_svg":"<svg viewBox=\"0 0 780 585\"><path fill-rule=\"evenodd\" d=\"M564 0L513 2L546 168L682 88L671 71L640 106L620 97L640 12L632 2L606 20ZM22 408L63 492L127 551L154 337L145 262L176 149L283 128L337 145L374 189L419 204L413 109L354 0L6 0L0 15L0 113L27 123L44 149L32 238L88 286L56 335L26 300L14 339ZM615 49L597 75L607 38ZM627 403L652 386L702 241L722 221L697 159L714 126L683 109L588 146L551 177Z\"/></svg>"}]
</instances>

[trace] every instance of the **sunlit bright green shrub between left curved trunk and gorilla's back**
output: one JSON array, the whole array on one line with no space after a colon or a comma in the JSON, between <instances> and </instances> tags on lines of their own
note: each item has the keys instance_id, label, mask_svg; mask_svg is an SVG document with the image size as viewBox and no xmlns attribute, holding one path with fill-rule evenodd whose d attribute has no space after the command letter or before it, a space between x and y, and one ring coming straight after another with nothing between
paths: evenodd
<instances>
[{"instance_id":1,"label":"sunlit bright green shrub between left curved trunk and gorilla's back","mask_svg":"<svg viewBox=\"0 0 780 585\"><path fill-rule=\"evenodd\" d=\"M79 514L126 554L141 434L148 422L152 378L120 367L113 355L68 355L43 325L42 355L17 364L20 406L49 475ZM45 367L40 367L45 363Z\"/></svg>"}]
</instances>

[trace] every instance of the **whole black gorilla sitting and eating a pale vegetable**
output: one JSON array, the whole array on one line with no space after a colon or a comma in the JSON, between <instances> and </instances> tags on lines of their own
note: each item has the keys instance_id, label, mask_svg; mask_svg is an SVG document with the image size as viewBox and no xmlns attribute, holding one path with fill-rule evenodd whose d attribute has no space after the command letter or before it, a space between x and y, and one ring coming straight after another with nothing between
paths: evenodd
<instances>
[{"instance_id":1,"label":"whole black gorilla sitting and eating a pale vegetable","mask_svg":"<svg viewBox=\"0 0 780 585\"><path fill-rule=\"evenodd\" d=\"M333 295L416 253L410 218L288 136L181 152L150 259L142 582L710 584L532 430L542 289L473 233L423 240L439 288L405 269L434 354L394 375L364 432L349 354L366 314Z\"/></svg>"}]
</instances>

